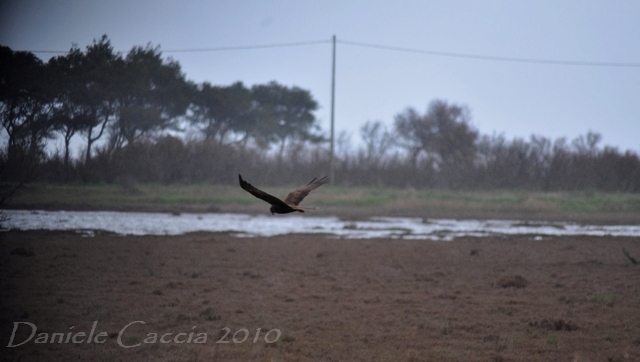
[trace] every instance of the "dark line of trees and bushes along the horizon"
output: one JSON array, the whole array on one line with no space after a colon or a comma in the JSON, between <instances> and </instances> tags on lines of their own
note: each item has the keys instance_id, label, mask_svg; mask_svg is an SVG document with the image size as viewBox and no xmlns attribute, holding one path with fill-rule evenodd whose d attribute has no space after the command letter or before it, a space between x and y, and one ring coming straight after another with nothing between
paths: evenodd
<instances>
[{"instance_id":1,"label":"dark line of trees and bushes along the horizon","mask_svg":"<svg viewBox=\"0 0 640 362\"><path fill-rule=\"evenodd\" d=\"M106 36L43 62L0 46L0 181L304 182L327 173L328 140L311 93L186 79L159 47L116 53ZM449 189L640 191L640 158L574 140L481 135L466 106L432 101L340 133L338 184ZM71 156L72 138L82 152ZM62 149L47 151L55 139Z\"/></svg>"}]
</instances>

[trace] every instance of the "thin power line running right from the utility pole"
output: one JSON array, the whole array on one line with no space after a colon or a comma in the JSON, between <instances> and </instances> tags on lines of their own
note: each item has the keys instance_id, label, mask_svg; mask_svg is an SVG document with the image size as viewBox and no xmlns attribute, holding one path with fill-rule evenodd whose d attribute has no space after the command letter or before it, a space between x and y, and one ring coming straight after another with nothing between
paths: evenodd
<instances>
[{"instance_id":1,"label":"thin power line running right from the utility pole","mask_svg":"<svg viewBox=\"0 0 640 362\"><path fill-rule=\"evenodd\" d=\"M640 67L640 63L590 62L590 61L580 61L580 60L552 60L552 59L535 59L535 58L499 57L499 56L491 56L491 55L450 53L450 52L440 52L440 51L434 51L434 50L402 48L402 47L394 47L394 46L387 46L387 45L359 43L359 42L352 42L352 41L346 41L346 40L339 40L338 43L345 44L345 45L365 47L365 48L400 51L405 53L418 53L418 54L434 55L434 56L441 56L441 57L491 60L491 61L512 62L512 63L580 65L580 66L591 66L591 67L626 67L626 68Z\"/></svg>"}]
</instances>

